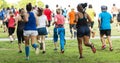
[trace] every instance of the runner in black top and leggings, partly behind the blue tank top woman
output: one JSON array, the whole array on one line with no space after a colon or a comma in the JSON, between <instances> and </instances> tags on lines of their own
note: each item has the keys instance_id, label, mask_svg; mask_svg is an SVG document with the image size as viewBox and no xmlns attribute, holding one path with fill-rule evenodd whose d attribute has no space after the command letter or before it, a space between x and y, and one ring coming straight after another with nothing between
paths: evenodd
<instances>
[{"instance_id":1,"label":"runner in black top and leggings, partly behind the blue tank top woman","mask_svg":"<svg viewBox=\"0 0 120 63\"><path fill-rule=\"evenodd\" d=\"M22 53L21 42L24 43L24 36L23 36L23 29L25 26L24 16L25 13L24 9L19 10L19 14L17 15L17 39L18 39L18 48L19 53Z\"/></svg>"}]
</instances>

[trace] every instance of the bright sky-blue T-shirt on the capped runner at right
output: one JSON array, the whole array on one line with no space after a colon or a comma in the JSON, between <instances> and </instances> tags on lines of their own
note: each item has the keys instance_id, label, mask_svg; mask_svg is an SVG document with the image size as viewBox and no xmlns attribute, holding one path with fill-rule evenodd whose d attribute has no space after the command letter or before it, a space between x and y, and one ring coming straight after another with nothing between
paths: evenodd
<instances>
[{"instance_id":1,"label":"bright sky-blue T-shirt on the capped runner at right","mask_svg":"<svg viewBox=\"0 0 120 63\"><path fill-rule=\"evenodd\" d=\"M100 30L111 29L110 21L112 19L112 16L110 13L104 11L99 14L99 18L101 19Z\"/></svg>"}]
</instances>

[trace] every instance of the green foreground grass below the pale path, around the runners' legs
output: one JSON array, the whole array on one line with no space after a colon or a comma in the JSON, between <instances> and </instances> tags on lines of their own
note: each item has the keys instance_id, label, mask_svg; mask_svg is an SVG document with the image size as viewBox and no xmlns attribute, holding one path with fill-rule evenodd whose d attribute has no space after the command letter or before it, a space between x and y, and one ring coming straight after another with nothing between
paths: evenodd
<instances>
[{"instance_id":1,"label":"green foreground grass below the pale path, around the runners' legs","mask_svg":"<svg viewBox=\"0 0 120 63\"><path fill-rule=\"evenodd\" d=\"M120 63L120 40L113 39L114 50L109 51L109 45L105 50L101 50L101 42L98 39L91 40L97 49L96 54L91 49L83 45L83 59L79 58L79 52L76 40L67 40L65 53L60 50L55 52L53 42L46 41L46 53L35 54L34 49L30 48L30 60L25 60L24 44L22 44L23 53L18 53L17 41L13 44L9 42L0 42L0 63ZM59 43L58 43L59 44Z\"/></svg>"}]
</instances>

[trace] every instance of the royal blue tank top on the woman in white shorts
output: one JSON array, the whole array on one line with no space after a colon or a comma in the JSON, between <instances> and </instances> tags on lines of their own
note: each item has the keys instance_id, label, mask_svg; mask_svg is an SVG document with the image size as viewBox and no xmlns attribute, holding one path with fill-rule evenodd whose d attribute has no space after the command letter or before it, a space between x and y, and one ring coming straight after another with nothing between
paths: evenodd
<instances>
[{"instance_id":1,"label":"royal blue tank top on the woman in white shorts","mask_svg":"<svg viewBox=\"0 0 120 63\"><path fill-rule=\"evenodd\" d=\"M25 23L24 30L37 30L36 19L33 12L28 12L28 22Z\"/></svg>"}]
</instances>

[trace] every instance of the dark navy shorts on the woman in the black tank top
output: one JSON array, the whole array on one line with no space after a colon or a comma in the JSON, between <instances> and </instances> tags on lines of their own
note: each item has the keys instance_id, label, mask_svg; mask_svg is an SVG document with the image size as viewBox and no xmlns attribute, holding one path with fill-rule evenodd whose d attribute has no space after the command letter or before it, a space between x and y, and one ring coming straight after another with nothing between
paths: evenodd
<instances>
[{"instance_id":1,"label":"dark navy shorts on the woman in the black tank top","mask_svg":"<svg viewBox=\"0 0 120 63\"><path fill-rule=\"evenodd\" d=\"M77 37L90 36L90 29L88 26L80 26L77 28Z\"/></svg>"}]
</instances>

